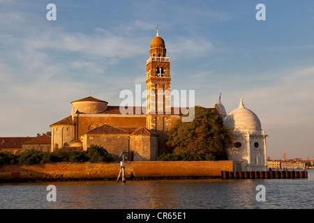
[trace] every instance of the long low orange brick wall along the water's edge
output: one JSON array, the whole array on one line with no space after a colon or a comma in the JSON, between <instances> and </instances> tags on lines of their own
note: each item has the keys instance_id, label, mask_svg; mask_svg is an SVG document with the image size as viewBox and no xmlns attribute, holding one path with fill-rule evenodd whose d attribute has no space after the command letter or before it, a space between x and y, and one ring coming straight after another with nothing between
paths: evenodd
<instances>
[{"instance_id":1,"label":"long low orange brick wall along the water's edge","mask_svg":"<svg viewBox=\"0 0 314 223\"><path fill-rule=\"evenodd\" d=\"M221 171L233 171L232 161L148 161L125 162L126 177L167 176L219 177ZM0 180L63 180L117 178L120 163L49 163L0 165Z\"/></svg>"}]
</instances>

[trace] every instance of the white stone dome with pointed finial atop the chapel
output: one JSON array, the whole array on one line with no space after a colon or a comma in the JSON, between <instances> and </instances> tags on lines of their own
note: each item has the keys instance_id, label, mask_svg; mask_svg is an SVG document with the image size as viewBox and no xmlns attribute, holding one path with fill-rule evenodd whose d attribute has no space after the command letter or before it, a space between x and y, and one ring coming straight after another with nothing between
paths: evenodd
<instances>
[{"instance_id":1,"label":"white stone dome with pointed finial atop the chapel","mask_svg":"<svg viewBox=\"0 0 314 223\"><path fill-rule=\"evenodd\" d=\"M239 107L225 118L225 125L235 132L247 133L249 131L251 134L261 134L262 131L260 119L254 112L244 107L242 98Z\"/></svg>"}]
</instances>

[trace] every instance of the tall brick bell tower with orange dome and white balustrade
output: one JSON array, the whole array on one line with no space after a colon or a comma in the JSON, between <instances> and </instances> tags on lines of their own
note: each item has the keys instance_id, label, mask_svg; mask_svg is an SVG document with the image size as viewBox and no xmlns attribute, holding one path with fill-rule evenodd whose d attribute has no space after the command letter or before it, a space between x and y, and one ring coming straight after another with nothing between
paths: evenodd
<instances>
[{"instance_id":1,"label":"tall brick bell tower with orange dome and white balustrade","mask_svg":"<svg viewBox=\"0 0 314 223\"><path fill-rule=\"evenodd\" d=\"M147 128L165 131L170 128L170 57L166 57L165 41L159 36L151 40L147 67Z\"/></svg>"}]
</instances>

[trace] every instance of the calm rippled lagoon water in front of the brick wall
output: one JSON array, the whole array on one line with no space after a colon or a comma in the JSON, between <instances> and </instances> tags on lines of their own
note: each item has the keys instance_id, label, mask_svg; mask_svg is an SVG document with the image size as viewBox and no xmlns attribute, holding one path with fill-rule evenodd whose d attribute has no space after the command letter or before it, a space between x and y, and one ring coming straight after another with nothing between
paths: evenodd
<instances>
[{"instance_id":1,"label":"calm rippled lagoon water in front of the brick wall","mask_svg":"<svg viewBox=\"0 0 314 223\"><path fill-rule=\"evenodd\" d=\"M48 202L51 184L57 201ZM257 185L264 185L266 201L256 201ZM308 209L314 208L314 169L307 179L0 183L0 208Z\"/></svg>"}]
</instances>

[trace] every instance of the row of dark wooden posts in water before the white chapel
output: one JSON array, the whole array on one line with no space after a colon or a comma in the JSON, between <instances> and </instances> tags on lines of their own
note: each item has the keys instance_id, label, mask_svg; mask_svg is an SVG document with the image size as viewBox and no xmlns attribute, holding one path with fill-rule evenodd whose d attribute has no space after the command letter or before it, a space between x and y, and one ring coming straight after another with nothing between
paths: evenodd
<instances>
[{"instance_id":1,"label":"row of dark wooden posts in water before the white chapel","mask_svg":"<svg viewBox=\"0 0 314 223\"><path fill-rule=\"evenodd\" d=\"M307 171L221 171L222 179L308 178Z\"/></svg>"}]
</instances>

